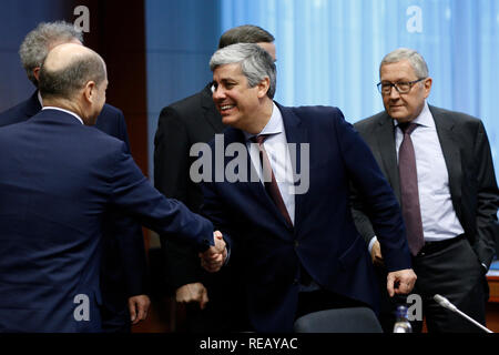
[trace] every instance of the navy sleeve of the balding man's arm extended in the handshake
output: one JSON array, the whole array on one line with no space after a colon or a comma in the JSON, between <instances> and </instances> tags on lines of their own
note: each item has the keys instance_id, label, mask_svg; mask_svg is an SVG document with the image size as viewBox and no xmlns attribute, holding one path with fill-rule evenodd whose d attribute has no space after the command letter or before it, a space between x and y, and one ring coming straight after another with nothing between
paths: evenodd
<instances>
[{"instance_id":1,"label":"navy sleeve of the balding man's arm extended in the handshake","mask_svg":"<svg viewBox=\"0 0 499 355\"><path fill-rule=\"evenodd\" d=\"M191 212L182 202L155 190L126 153L122 143L110 176L111 204L166 237L179 237L204 252L214 245L213 224Z\"/></svg>"}]
</instances>

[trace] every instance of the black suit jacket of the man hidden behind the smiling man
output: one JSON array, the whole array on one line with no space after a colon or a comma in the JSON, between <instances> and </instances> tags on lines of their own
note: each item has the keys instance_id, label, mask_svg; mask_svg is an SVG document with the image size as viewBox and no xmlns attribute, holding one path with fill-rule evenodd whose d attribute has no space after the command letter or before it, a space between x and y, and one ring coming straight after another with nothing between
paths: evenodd
<instances>
[{"instance_id":1,"label":"black suit jacket of the man hidden behind the smiling man","mask_svg":"<svg viewBox=\"0 0 499 355\"><path fill-rule=\"evenodd\" d=\"M203 194L189 174L195 160L190 159L190 150L195 143L210 142L223 130L210 84L201 92L164 108L154 138L154 186L166 197L180 200L191 211L197 212ZM172 288L213 278L201 268L200 258L192 247L176 240L161 240L166 281Z\"/></svg>"}]
</instances>

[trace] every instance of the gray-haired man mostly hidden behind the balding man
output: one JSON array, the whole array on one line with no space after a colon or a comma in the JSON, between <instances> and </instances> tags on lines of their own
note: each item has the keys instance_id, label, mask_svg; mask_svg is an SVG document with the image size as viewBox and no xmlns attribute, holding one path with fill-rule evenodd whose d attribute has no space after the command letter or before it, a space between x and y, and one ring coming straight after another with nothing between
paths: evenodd
<instances>
[{"instance_id":1,"label":"gray-haired man mostly hidden behind the balding man","mask_svg":"<svg viewBox=\"0 0 499 355\"><path fill-rule=\"evenodd\" d=\"M61 43L82 44L82 33L67 22L40 23L27 34L20 57L28 79L38 89L40 67L51 48ZM0 113L0 126L23 122L42 109L37 90L28 100ZM104 104L95 126L123 141L130 153L126 123L121 110ZM142 227L116 211L109 211L103 223L103 260L101 267L102 328L104 332L130 332L147 316L150 306L146 283L146 258Z\"/></svg>"}]
</instances>

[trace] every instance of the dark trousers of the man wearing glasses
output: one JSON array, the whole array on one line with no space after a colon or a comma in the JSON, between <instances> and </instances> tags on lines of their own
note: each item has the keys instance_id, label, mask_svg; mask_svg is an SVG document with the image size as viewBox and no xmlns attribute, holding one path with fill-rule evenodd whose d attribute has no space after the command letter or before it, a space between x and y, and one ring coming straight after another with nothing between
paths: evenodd
<instances>
[{"instance_id":1,"label":"dark trousers of the man wearing glasses","mask_svg":"<svg viewBox=\"0 0 499 355\"><path fill-rule=\"evenodd\" d=\"M434 301L435 294L447 297L461 312L485 325L488 285L476 253L464 236L455 240L426 244L413 257L417 281L413 294L421 296L422 315L429 333L482 332L458 314L441 307ZM378 270L378 275L383 273ZM380 276L380 283L386 285ZM386 286L385 286L386 288ZM384 288L383 288L384 290ZM405 297L389 298L381 294L379 321L385 332L393 331L395 308L405 303ZM413 332L421 332L422 321L414 321Z\"/></svg>"}]
</instances>

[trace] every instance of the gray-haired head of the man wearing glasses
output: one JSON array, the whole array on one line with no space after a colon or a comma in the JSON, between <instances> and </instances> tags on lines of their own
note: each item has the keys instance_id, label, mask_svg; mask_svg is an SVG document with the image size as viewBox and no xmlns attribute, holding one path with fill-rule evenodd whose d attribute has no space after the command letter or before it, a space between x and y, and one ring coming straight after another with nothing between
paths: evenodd
<instances>
[{"instance_id":1,"label":"gray-haired head of the man wearing glasses","mask_svg":"<svg viewBox=\"0 0 499 355\"><path fill-rule=\"evenodd\" d=\"M410 122L421 112L425 100L431 91L428 65L417 51L399 48L385 55L379 64L379 79L387 92L381 93L386 112L399 122ZM390 84L409 89L400 93Z\"/></svg>"}]
</instances>

